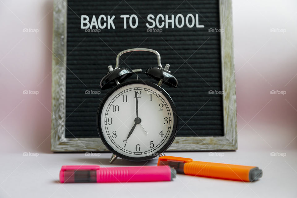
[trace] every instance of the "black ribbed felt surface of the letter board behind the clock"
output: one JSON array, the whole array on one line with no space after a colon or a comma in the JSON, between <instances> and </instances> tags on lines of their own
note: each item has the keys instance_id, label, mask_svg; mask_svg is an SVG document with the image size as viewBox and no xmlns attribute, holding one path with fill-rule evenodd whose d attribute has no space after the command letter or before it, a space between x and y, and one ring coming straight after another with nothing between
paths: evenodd
<instances>
[{"instance_id":1,"label":"black ribbed felt surface of the letter board behind the clock","mask_svg":"<svg viewBox=\"0 0 297 198\"><path fill-rule=\"evenodd\" d=\"M162 86L178 110L177 136L223 136L222 96L209 94L209 90L222 90L220 35L209 32L209 28L219 28L218 1L68 0L67 12L66 137L98 137L97 108L108 91L102 91L99 82L107 66L115 65L116 54L137 47L157 50L162 65L170 64L179 80L178 88ZM161 33L147 32L148 14L156 17L180 13L186 17L197 12L199 24L204 28L175 27L162 28ZM91 18L101 14L115 15L116 29L102 29L100 33L80 29L81 15ZM123 14L137 15L138 27L124 29L120 18ZM128 53L121 59L120 67L143 71L157 67L156 56L149 52ZM139 77L154 82L144 73ZM101 94L85 94L86 90Z\"/></svg>"}]
</instances>

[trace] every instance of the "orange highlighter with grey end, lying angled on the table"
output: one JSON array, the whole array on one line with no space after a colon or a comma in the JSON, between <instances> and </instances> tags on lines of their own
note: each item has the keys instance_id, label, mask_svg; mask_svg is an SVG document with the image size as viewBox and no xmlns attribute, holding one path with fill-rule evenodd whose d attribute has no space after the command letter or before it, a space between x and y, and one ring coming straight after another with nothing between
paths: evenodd
<instances>
[{"instance_id":1,"label":"orange highlighter with grey end, lying angled on the table","mask_svg":"<svg viewBox=\"0 0 297 198\"><path fill-rule=\"evenodd\" d=\"M241 166L213 162L193 161L191 158L162 156L158 166L169 165L177 173L217 179L252 182L262 177L262 170L256 166Z\"/></svg>"}]
</instances>

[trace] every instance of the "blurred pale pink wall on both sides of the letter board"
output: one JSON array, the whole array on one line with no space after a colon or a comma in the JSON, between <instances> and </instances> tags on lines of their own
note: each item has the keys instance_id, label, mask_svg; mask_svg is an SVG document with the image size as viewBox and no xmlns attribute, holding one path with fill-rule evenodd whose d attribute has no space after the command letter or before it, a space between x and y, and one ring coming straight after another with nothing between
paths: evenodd
<instances>
[{"instance_id":1,"label":"blurred pale pink wall on both sides of the letter board","mask_svg":"<svg viewBox=\"0 0 297 198\"><path fill-rule=\"evenodd\" d=\"M233 2L239 149L297 148L296 8L294 0ZM50 153L52 9L52 0L0 1L1 152Z\"/></svg>"}]
</instances>

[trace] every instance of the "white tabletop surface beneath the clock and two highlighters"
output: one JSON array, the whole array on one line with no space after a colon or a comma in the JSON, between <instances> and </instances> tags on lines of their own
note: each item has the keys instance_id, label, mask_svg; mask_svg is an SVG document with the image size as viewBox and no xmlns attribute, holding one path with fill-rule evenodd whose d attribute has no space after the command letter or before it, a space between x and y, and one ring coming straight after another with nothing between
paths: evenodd
<instances>
[{"instance_id":1,"label":"white tabletop surface beneath the clock and two highlighters","mask_svg":"<svg viewBox=\"0 0 297 198\"><path fill-rule=\"evenodd\" d=\"M178 174L170 182L145 183L64 183L59 180L62 165L142 166L145 162L117 159L109 165L110 153L3 153L0 197L296 197L297 151L239 149L236 152L175 152L166 155L194 160L258 166L259 181L237 182ZM157 158L146 163L155 166Z\"/></svg>"}]
</instances>

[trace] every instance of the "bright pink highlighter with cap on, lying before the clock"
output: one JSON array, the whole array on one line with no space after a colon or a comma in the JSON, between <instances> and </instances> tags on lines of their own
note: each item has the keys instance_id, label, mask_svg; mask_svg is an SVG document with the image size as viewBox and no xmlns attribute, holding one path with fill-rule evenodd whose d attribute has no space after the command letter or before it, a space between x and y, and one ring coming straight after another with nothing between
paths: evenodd
<instances>
[{"instance_id":1,"label":"bright pink highlighter with cap on, lying before the clock","mask_svg":"<svg viewBox=\"0 0 297 198\"><path fill-rule=\"evenodd\" d=\"M60 171L61 183L156 182L170 181L175 177L176 170L170 166L62 166Z\"/></svg>"}]
</instances>

